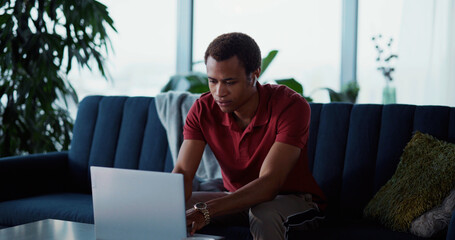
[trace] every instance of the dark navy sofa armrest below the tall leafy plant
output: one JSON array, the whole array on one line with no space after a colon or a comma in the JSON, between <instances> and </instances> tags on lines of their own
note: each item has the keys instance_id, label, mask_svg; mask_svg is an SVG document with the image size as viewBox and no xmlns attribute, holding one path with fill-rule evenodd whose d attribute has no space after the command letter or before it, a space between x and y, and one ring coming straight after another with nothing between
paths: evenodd
<instances>
[{"instance_id":1,"label":"dark navy sofa armrest below the tall leafy plant","mask_svg":"<svg viewBox=\"0 0 455 240\"><path fill-rule=\"evenodd\" d=\"M68 152L0 158L0 202L63 191Z\"/></svg>"}]
</instances>

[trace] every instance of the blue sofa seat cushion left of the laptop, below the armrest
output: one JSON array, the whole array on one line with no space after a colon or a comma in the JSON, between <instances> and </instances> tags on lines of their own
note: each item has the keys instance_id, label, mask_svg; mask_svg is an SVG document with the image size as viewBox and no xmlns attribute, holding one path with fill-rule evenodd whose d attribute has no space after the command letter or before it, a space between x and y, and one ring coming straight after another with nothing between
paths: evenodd
<instances>
[{"instance_id":1,"label":"blue sofa seat cushion left of the laptop, below the armrest","mask_svg":"<svg viewBox=\"0 0 455 240\"><path fill-rule=\"evenodd\" d=\"M93 223L92 196L59 193L0 202L0 225L15 226L48 218Z\"/></svg>"}]
</instances>

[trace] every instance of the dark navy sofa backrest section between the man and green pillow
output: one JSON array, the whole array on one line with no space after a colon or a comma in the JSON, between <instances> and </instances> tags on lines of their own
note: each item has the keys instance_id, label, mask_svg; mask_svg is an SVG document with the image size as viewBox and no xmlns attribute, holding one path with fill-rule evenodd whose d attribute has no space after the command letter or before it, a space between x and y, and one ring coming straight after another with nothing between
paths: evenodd
<instances>
[{"instance_id":1,"label":"dark navy sofa backrest section between the man and green pillow","mask_svg":"<svg viewBox=\"0 0 455 240\"><path fill-rule=\"evenodd\" d=\"M309 164L329 217L357 219L395 173L414 131L455 143L455 108L311 104Z\"/></svg>"}]
</instances>

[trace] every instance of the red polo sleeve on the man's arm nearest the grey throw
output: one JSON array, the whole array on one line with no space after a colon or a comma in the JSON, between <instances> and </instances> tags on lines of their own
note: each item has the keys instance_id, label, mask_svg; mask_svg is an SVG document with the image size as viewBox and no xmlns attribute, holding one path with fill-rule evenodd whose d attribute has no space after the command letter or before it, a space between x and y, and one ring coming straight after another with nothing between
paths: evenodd
<instances>
[{"instance_id":1,"label":"red polo sleeve on the man's arm nearest the grey throw","mask_svg":"<svg viewBox=\"0 0 455 240\"><path fill-rule=\"evenodd\" d=\"M201 103L198 100L191 106L188 115L186 116L185 125L183 126L183 138L185 140L202 140L205 141L202 134L200 117L201 117Z\"/></svg>"}]
</instances>

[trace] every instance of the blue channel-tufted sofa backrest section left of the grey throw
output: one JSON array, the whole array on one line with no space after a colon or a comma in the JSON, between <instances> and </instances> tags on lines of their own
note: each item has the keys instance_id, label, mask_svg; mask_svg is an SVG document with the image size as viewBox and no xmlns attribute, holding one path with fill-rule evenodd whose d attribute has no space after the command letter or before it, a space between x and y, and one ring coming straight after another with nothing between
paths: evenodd
<instances>
[{"instance_id":1,"label":"blue channel-tufted sofa backrest section left of the grey throw","mask_svg":"<svg viewBox=\"0 0 455 240\"><path fill-rule=\"evenodd\" d=\"M89 96L78 107L69 158L76 191L90 192L89 166L172 170L152 97Z\"/></svg>"}]
</instances>

